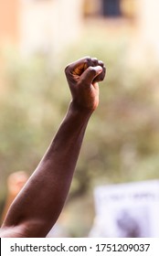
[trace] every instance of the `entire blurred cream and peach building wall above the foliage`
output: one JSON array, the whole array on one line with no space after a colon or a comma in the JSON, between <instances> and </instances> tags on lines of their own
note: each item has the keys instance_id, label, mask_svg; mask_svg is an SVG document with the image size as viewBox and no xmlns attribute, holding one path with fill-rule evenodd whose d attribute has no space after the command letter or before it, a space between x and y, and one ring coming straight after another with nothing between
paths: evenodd
<instances>
[{"instance_id":1,"label":"entire blurred cream and peach building wall above the foliage","mask_svg":"<svg viewBox=\"0 0 159 256\"><path fill-rule=\"evenodd\" d=\"M120 8L117 16L112 11L113 5ZM112 16L110 13L107 16L108 6ZM107 29L115 20L114 34L131 25L131 33L134 29L137 32L138 48L149 46L159 54L158 9L156 0L0 0L1 44L15 43L28 53L50 52L50 49L56 53L80 37L83 24L87 26L86 16L94 16L96 20L102 18L101 26Z\"/></svg>"}]
</instances>

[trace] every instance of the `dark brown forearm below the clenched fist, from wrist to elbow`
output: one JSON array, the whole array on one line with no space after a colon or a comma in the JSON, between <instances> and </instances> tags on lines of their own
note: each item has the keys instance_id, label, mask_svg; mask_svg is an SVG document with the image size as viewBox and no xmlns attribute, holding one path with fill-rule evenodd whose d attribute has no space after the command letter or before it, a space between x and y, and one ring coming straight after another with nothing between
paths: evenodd
<instances>
[{"instance_id":1,"label":"dark brown forearm below the clenched fist, from wrist to elbow","mask_svg":"<svg viewBox=\"0 0 159 256\"><path fill-rule=\"evenodd\" d=\"M46 155L10 208L5 226L36 219L37 223L45 223L46 227L45 230L43 227L40 236L48 233L58 219L68 195L90 114L70 104ZM37 232L41 232L40 225L38 227Z\"/></svg>"}]
</instances>

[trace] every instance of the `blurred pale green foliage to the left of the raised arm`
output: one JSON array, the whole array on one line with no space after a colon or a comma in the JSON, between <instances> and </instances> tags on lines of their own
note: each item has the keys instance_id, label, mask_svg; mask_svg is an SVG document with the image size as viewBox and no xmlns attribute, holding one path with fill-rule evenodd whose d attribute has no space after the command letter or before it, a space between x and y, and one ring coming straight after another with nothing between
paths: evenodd
<instances>
[{"instance_id":1,"label":"blurred pale green foliage to the left of the raised arm","mask_svg":"<svg viewBox=\"0 0 159 256\"><path fill-rule=\"evenodd\" d=\"M63 86L63 72L58 77L48 60L22 59L18 53L5 60L6 84L0 100L2 191L9 173L20 169L32 173L63 118L69 90Z\"/></svg>"}]
</instances>

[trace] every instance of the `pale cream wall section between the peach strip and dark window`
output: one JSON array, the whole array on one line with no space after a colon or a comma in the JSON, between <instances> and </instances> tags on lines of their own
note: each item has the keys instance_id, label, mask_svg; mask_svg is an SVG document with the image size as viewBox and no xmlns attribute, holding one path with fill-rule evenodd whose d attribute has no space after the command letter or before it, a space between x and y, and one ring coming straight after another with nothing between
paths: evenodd
<instances>
[{"instance_id":1,"label":"pale cream wall section between the peach strip and dark window","mask_svg":"<svg viewBox=\"0 0 159 256\"><path fill-rule=\"evenodd\" d=\"M81 0L21 1L20 47L60 51L80 36Z\"/></svg>"}]
</instances>

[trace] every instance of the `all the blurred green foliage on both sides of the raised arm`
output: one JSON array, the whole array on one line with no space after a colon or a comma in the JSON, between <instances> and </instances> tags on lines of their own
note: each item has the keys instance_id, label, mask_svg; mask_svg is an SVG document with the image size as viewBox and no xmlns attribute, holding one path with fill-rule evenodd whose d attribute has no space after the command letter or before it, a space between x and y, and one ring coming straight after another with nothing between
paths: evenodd
<instances>
[{"instance_id":1,"label":"all the blurred green foliage on both sides of the raised arm","mask_svg":"<svg viewBox=\"0 0 159 256\"><path fill-rule=\"evenodd\" d=\"M32 173L45 153L70 100L63 69L83 56L102 59L107 78L100 84L100 106L90 119L70 202L99 184L159 178L158 67L132 67L122 40L87 37L63 54L58 67L48 56L22 59L9 53L6 58L7 85L0 101L1 195L9 173ZM78 232L75 236L82 236Z\"/></svg>"}]
</instances>

